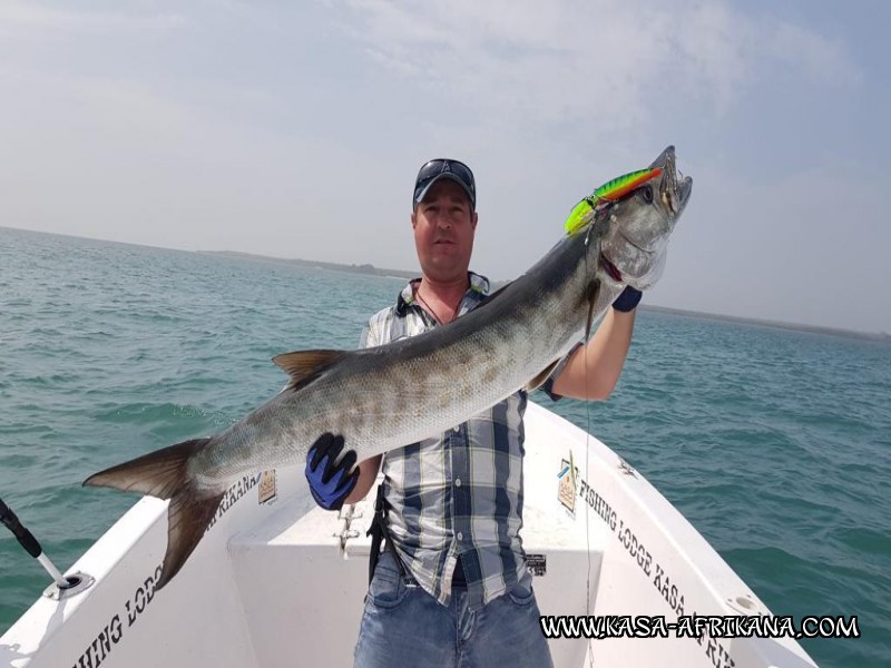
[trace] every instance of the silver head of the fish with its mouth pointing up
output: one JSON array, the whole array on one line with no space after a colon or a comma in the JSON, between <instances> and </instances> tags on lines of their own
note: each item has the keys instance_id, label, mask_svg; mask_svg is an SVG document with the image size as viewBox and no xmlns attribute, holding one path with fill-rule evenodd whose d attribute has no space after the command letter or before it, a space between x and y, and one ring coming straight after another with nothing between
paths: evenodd
<instances>
[{"instance_id":1,"label":"silver head of the fish with its mouth pointing up","mask_svg":"<svg viewBox=\"0 0 891 668\"><path fill-rule=\"evenodd\" d=\"M665 266L668 238L687 206L693 179L683 176L669 146L649 166L655 176L598 216L604 278L637 289L652 287Z\"/></svg>"}]
</instances>

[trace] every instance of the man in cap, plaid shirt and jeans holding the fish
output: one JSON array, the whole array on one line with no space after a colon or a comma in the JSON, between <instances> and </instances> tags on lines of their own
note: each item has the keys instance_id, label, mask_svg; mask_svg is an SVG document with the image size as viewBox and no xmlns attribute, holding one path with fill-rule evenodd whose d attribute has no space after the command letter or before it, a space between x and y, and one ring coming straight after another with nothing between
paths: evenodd
<instances>
[{"instance_id":1,"label":"man in cap, plaid shirt and jeans holding the fish","mask_svg":"<svg viewBox=\"0 0 891 668\"><path fill-rule=\"evenodd\" d=\"M437 159L421 167L411 225L422 277L369 321L363 346L447 324L484 299L489 282L469 272L476 205L464 164ZM552 399L609 395L639 301L630 287L616 299L588 344L545 384ZM519 537L526 401L518 391L447 433L361 462L352 473L352 451L332 463L343 439L326 434L311 449L306 477L323 508L363 499L383 463L386 549L369 588L355 666L551 665Z\"/></svg>"}]
</instances>

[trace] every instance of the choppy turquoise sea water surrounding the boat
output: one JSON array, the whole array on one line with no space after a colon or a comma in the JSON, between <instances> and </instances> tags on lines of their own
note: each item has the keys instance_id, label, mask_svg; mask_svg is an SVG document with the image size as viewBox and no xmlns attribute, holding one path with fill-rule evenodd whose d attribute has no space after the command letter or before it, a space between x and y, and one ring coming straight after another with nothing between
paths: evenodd
<instances>
[{"instance_id":1,"label":"choppy turquoise sea water surrounding the boat","mask_svg":"<svg viewBox=\"0 0 891 668\"><path fill-rule=\"evenodd\" d=\"M297 254L295 252L295 254ZM354 347L396 279L0 228L0 498L69 567L134 498L106 465L218 431L270 358ZM777 615L856 615L891 664L891 345L643 311L608 402L551 404L640 470ZM0 533L0 633L48 584Z\"/></svg>"}]
</instances>

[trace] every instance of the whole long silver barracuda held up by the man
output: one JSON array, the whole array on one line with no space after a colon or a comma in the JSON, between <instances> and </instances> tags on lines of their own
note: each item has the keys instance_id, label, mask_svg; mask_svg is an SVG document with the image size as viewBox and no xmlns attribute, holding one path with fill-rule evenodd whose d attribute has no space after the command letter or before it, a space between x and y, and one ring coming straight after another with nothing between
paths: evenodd
<instances>
[{"instance_id":1,"label":"whole long silver barracuda held up by the man","mask_svg":"<svg viewBox=\"0 0 891 668\"><path fill-rule=\"evenodd\" d=\"M291 383L237 424L107 469L84 484L170 500L160 589L242 475L303 463L323 432L342 434L362 461L537 386L626 284L645 289L662 273L692 180L679 177L674 147L648 175L639 174L626 179L625 190L610 188L611 197L601 197L601 188L582 200L567 222L569 234L538 264L454 322L380 347L278 355L274 362Z\"/></svg>"}]
</instances>

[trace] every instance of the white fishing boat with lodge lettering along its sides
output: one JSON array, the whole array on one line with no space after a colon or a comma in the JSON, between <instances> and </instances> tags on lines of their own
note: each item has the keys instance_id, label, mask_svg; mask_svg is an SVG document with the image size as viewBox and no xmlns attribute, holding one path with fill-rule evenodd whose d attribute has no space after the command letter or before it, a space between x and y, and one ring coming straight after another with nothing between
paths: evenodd
<instances>
[{"instance_id":1,"label":"white fishing boat with lodge lettering along its sides","mask_svg":"<svg viewBox=\"0 0 891 668\"><path fill-rule=\"evenodd\" d=\"M531 402L526 435L522 536L542 616L599 616L613 633L630 623L655 636L552 638L555 666L815 666L791 638L663 633L659 619L771 612L609 448ZM158 592L167 503L141 499L67 573L78 587L49 587L0 638L0 666L352 666L371 503L323 511L302 478L290 468L242 480Z\"/></svg>"}]
</instances>

